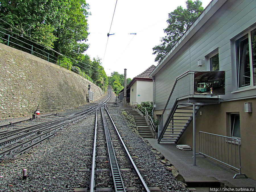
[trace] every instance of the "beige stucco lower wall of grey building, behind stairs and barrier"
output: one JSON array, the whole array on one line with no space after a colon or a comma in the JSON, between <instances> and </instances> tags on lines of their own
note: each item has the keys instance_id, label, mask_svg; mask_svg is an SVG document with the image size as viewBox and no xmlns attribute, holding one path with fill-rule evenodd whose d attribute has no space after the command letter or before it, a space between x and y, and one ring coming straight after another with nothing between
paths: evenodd
<instances>
[{"instance_id":1,"label":"beige stucco lower wall of grey building, behind stairs and barrier","mask_svg":"<svg viewBox=\"0 0 256 192\"><path fill-rule=\"evenodd\" d=\"M252 103L252 113L244 112L244 103ZM240 114L241 132L241 166L242 173L256 179L256 98L221 102L220 104L203 106L196 115L196 152L198 152L198 132L205 131L218 135L230 135L230 113ZM193 146L192 123L185 130L178 144Z\"/></svg>"}]
</instances>

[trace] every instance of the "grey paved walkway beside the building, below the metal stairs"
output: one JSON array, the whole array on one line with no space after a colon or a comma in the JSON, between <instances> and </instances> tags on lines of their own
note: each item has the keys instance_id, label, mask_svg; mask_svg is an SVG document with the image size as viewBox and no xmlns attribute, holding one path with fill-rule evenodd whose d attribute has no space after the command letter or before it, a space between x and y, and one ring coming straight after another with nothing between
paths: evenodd
<instances>
[{"instance_id":1,"label":"grey paved walkway beside the building, below the metal stairs","mask_svg":"<svg viewBox=\"0 0 256 192\"><path fill-rule=\"evenodd\" d=\"M256 187L255 180L243 176L233 179L238 172L202 155L196 155L196 166L194 166L191 150L179 150L176 144L158 144L157 139L146 140L178 169L186 181L210 182L217 179L226 183L228 187Z\"/></svg>"}]
</instances>

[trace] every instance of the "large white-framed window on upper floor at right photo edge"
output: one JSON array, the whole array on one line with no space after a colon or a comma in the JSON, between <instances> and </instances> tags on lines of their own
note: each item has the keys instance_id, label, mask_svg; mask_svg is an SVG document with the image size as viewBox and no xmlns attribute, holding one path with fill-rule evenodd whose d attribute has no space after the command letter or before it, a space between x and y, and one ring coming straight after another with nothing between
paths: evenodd
<instances>
[{"instance_id":1,"label":"large white-framed window on upper floor at right photo edge","mask_svg":"<svg viewBox=\"0 0 256 192\"><path fill-rule=\"evenodd\" d=\"M256 85L256 29L236 40L238 88Z\"/></svg>"}]
</instances>

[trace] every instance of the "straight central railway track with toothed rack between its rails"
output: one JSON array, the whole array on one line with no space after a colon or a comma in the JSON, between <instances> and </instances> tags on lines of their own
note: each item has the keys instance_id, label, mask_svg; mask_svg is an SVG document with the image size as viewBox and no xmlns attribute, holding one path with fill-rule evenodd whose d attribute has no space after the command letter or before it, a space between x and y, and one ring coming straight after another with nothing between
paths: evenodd
<instances>
[{"instance_id":1,"label":"straight central railway track with toothed rack between its rails","mask_svg":"<svg viewBox=\"0 0 256 192\"><path fill-rule=\"evenodd\" d=\"M75 188L74 191L150 191L125 146L106 104L95 112L92 146L91 168L81 170L90 174L87 176L90 178L87 182L88 187Z\"/></svg>"}]
</instances>

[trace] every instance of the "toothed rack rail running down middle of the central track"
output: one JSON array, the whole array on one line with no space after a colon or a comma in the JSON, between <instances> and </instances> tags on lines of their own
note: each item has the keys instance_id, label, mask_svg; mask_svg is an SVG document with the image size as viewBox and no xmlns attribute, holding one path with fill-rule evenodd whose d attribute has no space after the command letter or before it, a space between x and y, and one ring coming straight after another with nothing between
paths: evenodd
<instances>
[{"instance_id":1,"label":"toothed rack rail running down middle of the central track","mask_svg":"<svg viewBox=\"0 0 256 192\"><path fill-rule=\"evenodd\" d=\"M119 169L119 166L117 163L117 159L115 156L114 147L113 147L110 133L108 130L108 124L107 124L106 117L103 112L103 107L101 107L100 110L101 110L102 121L103 121L103 125L104 125L105 137L106 137L107 148L108 148L108 157L110 160L110 169L112 172L112 178L113 178L115 191L126 191L124 183L123 183L123 179L121 176L121 172L120 172L120 169Z\"/></svg>"}]
</instances>

